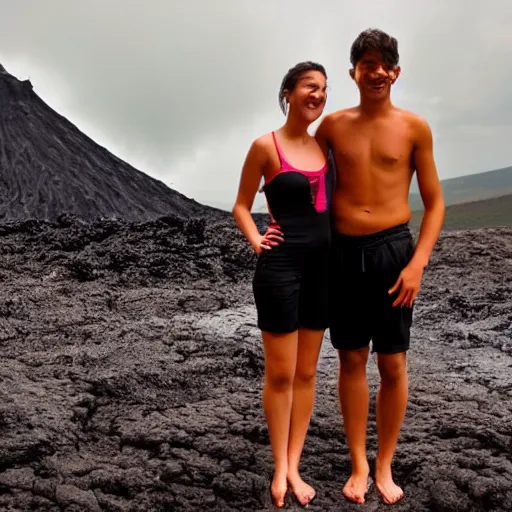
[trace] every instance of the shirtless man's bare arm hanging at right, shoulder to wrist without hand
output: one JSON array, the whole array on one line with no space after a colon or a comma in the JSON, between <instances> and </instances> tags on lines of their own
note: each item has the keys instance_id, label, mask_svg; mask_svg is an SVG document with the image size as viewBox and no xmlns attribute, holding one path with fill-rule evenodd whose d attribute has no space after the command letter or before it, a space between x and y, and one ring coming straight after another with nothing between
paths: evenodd
<instances>
[{"instance_id":1,"label":"shirtless man's bare arm hanging at right, shoulder to wrist without hand","mask_svg":"<svg viewBox=\"0 0 512 512\"><path fill-rule=\"evenodd\" d=\"M434 162L432 132L423 119L416 120L415 124L417 136L413 162L425 213L411 263L426 267L443 227L445 205Z\"/></svg>"}]
</instances>

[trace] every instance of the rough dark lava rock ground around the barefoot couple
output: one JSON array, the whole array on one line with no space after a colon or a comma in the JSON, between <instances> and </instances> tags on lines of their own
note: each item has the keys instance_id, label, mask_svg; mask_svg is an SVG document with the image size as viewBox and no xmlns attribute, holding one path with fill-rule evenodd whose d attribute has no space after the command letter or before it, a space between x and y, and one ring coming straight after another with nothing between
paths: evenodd
<instances>
[{"instance_id":1,"label":"rough dark lava rock ground around the barefoot couple","mask_svg":"<svg viewBox=\"0 0 512 512\"><path fill-rule=\"evenodd\" d=\"M271 510L255 259L231 221L0 227L0 510ZM375 457L375 361L368 366ZM512 229L444 233L417 300L399 511L512 509ZM363 506L328 333L310 510ZM295 505L288 500L288 508Z\"/></svg>"}]
</instances>

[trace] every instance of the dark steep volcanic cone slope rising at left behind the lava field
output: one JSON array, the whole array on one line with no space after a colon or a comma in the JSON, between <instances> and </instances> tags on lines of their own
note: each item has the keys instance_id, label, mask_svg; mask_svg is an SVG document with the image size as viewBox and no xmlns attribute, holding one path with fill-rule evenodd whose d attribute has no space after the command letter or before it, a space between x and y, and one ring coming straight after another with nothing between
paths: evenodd
<instances>
[{"instance_id":1,"label":"dark steep volcanic cone slope rising at left behind the lava field","mask_svg":"<svg viewBox=\"0 0 512 512\"><path fill-rule=\"evenodd\" d=\"M218 216L112 155L0 66L0 219Z\"/></svg>"}]
</instances>

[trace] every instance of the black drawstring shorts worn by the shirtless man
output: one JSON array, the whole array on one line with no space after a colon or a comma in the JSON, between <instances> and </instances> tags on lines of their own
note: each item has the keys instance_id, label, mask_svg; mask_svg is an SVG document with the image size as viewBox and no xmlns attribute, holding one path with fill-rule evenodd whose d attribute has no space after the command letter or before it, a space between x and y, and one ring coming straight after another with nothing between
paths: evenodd
<instances>
[{"instance_id":1,"label":"black drawstring shorts worn by the shirtless man","mask_svg":"<svg viewBox=\"0 0 512 512\"><path fill-rule=\"evenodd\" d=\"M374 352L409 349L413 308L393 307L390 295L414 253L406 224L365 236L333 233L330 263L330 335L338 350L357 350L372 340Z\"/></svg>"}]
</instances>

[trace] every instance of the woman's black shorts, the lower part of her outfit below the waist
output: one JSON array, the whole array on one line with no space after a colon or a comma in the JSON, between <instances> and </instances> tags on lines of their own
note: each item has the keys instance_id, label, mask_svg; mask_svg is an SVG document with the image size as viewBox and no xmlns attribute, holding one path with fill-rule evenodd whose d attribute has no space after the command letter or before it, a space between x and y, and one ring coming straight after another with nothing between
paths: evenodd
<instances>
[{"instance_id":1,"label":"woman's black shorts, the lower part of her outfit below the waist","mask_svg":"<svg viewBox=\"0 0 512 512\"><path fill-rule=\"evenodd\" d=\"M253 279L258 327L275 334L329 323L329 246L263 251Z\"/></svg>"}]
</instances>

